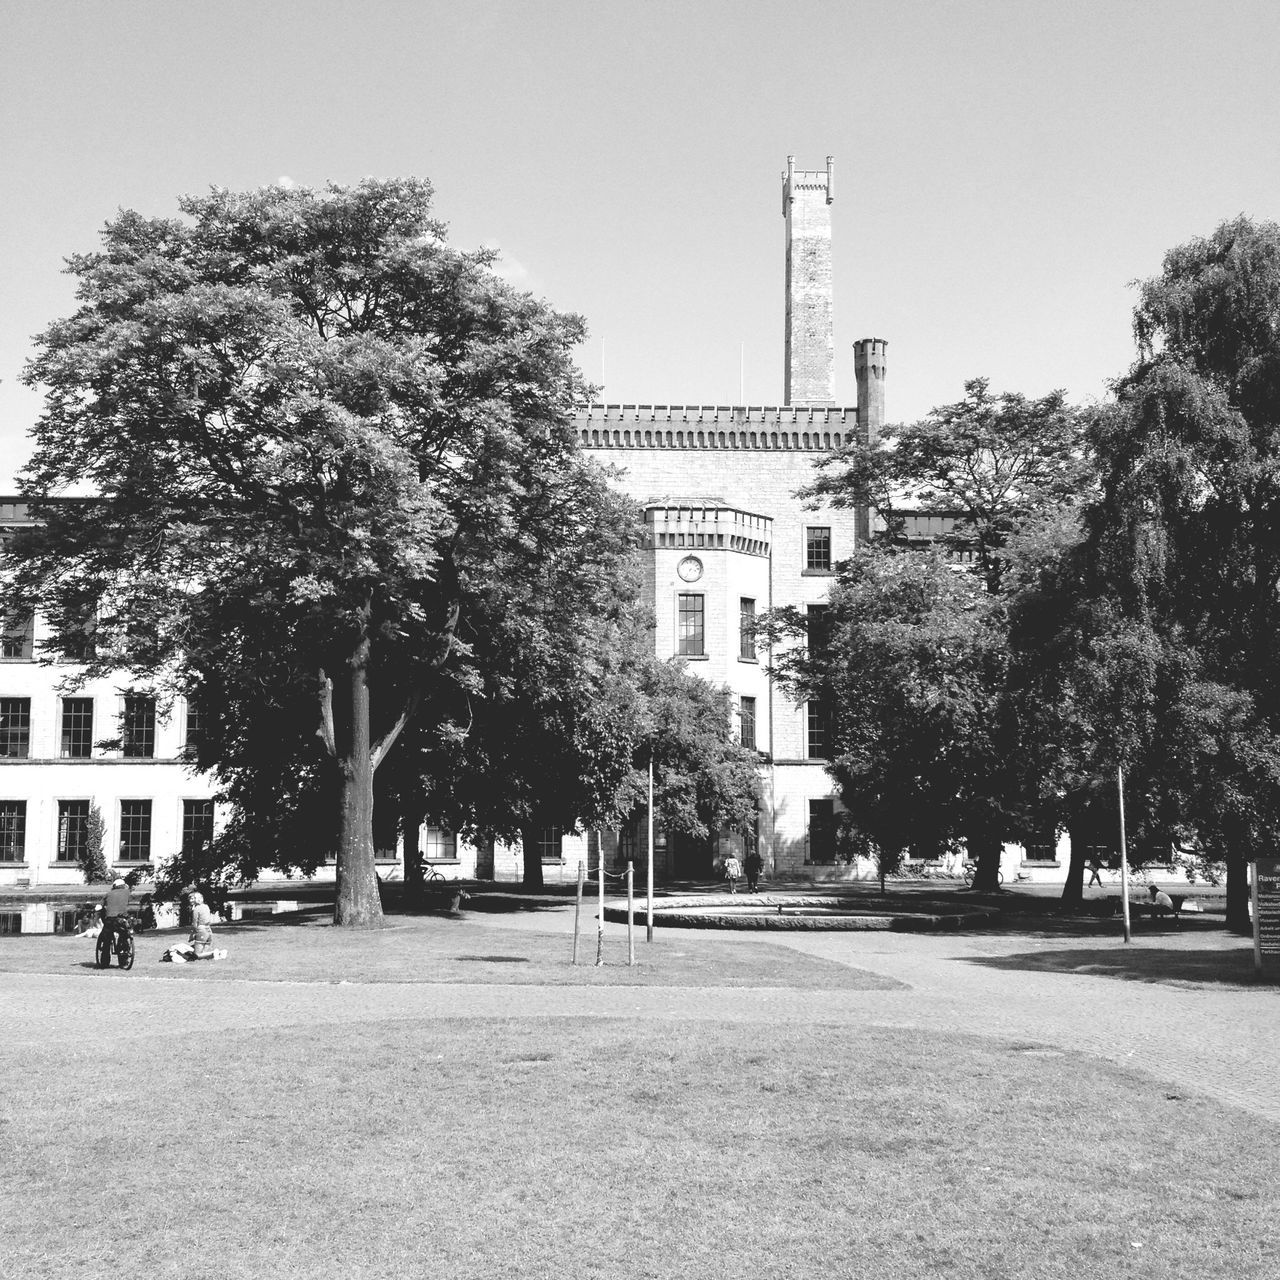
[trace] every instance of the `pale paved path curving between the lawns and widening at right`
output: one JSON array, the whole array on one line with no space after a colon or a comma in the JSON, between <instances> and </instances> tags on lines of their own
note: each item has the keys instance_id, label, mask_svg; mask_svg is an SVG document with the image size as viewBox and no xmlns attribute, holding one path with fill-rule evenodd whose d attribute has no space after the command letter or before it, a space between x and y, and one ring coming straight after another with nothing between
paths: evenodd
<instances>
[{"instance_id":1,"label":"pale paved path curving between the lawns and widening at right","mask_svg":"<svg viewBox=\"0 0 1280 1280\"><path fill-rule=\"evenodd\" d=\"M561 932L572 910L474 919L495 929ZM719 934L723 938L724 934ZM698 933L659 929L658 946ZM644 1018L835 1023L957 1030L1096 1055L1178 1089L1203 1092L1280 1123L1280 989L1240 983L1135 980L1196 974L1212 954L1236 973L1247 943L1215 933L1158 934L1129 947L1114 936L794 933L736 934L895 978L897 991L716 987L541 987L219 982L133 974L0 975L0 1028L13 1048L49 1044L60 1028L99 1034L184 1034L193 1018L220 1029L420 1018ZM643 946L643 943L640 943ZM1080 972L1080 969L1102 972ZM197 1004L198 1002L198 1004ZM56 1010L56 1016L51 1012Z\"/></svg>"}]
</instances>

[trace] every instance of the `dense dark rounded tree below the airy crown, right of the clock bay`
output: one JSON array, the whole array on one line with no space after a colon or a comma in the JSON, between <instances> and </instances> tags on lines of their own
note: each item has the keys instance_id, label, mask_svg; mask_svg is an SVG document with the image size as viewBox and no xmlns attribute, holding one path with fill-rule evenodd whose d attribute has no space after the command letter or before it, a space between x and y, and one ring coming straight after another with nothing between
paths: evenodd
<instances>
[{"instance_id":1,"label":"dense dark rounded tree below the airy crown, right of the clock bay","mask_svg":"<svg viewBox=\"0 0 1280 1280\"><path fill-rule=\"evenodd\" d=\"M1001 845L1023 812L1002 614L963 566L884 548L842 566L824 643L799 611L767 620L774 644L791 641L774 664L782 686L828 710L828 771L882 867L963 841L978 860L974 886L998 887Z\"/></svg>"}]
</instances>

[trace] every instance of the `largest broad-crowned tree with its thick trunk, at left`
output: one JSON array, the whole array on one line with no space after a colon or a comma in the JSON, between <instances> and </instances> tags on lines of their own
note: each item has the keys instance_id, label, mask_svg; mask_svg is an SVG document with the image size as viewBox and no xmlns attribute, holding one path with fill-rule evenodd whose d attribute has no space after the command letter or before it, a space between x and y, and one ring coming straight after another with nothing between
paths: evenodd
<instances>
[{"instance_id":1,"label":"largest broad-crowned tree with its thick trunk, at left","mask_svg":"<svg viewBox=\"0 0 1280 1280\"><path fill-rule=\"evenodd\" d=\"M380 920L374 773L452 678L468 585L531 572L584 492L581 323L451 248L430 196L366 180L123 212L69 260L78 310L26 371L45 410L24 488L97 500L38 508L13 548L23 607L64 648L96 611L90 673L207 699L198 763L241 833L311 814L348 925Z\"/></svg>"}]
</instances>

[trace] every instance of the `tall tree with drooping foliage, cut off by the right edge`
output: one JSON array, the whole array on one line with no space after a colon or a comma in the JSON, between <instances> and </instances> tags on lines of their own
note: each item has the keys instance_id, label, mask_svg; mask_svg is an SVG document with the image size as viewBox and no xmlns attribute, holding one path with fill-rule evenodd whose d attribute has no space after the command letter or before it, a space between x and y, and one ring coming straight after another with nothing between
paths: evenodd
<instances>
[{"instance_id":1,"label":"tall tree with drooping foliage, cut off by the right edge","mask_svg":"<svg viewBox=\"0 0 1280 1280\"><path fill-rule=\"evenodd\" d=\"M1221 828L1229 920L1243 927L1245 863L1268 851L1280 818L1270 763L1280 732L1280 227L1238 218L1170 250L1140 285L1134 334L1138 361L1091 430L1102 494L1089 556L1130 618L1183 637L1212 681L1248 694L1262 737L1230 756L1251 817Z\"/></svg>"}]
</instances>

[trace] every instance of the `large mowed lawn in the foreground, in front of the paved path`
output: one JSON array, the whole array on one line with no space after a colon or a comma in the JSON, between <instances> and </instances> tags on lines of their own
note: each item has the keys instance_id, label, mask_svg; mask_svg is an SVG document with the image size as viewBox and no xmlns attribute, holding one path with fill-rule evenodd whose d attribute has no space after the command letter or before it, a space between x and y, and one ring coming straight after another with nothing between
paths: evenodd
<instances>
[{"instance_id":1,"label":"large mowed lawn in the foreground, in front of the paved path","mask_svg":"<svg viewBox=\"0 0 1280 1280\"><path fill-rule=\"evenodd\" d=\"M1274 1126L1030 1043L534 1018L52 1041L0 1043L5 1277L1280 1274Z\"/></svg>"}]
</instances>

